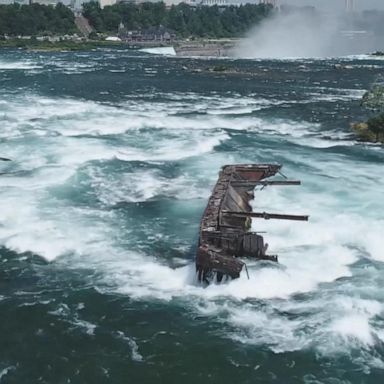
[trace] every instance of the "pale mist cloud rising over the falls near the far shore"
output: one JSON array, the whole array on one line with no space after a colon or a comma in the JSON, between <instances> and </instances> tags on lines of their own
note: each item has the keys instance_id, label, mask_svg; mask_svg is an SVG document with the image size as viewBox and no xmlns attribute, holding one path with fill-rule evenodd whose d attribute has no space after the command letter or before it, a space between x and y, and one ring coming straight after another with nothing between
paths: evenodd
<instances>
[{"instance_id":1,"label":"pale mist cloud rising over the falls near the far shore","mask_svg":"<svg viewBox=\"0 0 384 384\"><path fill-rule=\"evenodd\" d=\"M361 30L361 25L357 30L355 22L346 14L320 13L312 8L276 12L248 33L236 47L235 56L334 57L372 52L373 33Z\"/></svg>"}]
</instances>

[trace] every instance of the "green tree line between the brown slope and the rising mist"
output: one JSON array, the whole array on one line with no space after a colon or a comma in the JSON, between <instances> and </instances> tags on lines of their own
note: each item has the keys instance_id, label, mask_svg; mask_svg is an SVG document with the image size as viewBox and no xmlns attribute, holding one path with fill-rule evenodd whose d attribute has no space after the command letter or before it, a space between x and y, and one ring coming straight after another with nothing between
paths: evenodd
<instances>
[{"instance_id":1,"label":"green tree line between the brown slope and the rising mist","mask_svg":"<svg viewBox=\"0 0 384 384\"><path fill-rule=\"evenodd\" d=\"M241 36L272 11L266 4L191 7L181 3L169 8L163 2L117 3L104 8L95 1L83 4L83 15L99 33L116 34L123 23L128 30L164 26L179 37Z\"/></svg>"}]
</instances>

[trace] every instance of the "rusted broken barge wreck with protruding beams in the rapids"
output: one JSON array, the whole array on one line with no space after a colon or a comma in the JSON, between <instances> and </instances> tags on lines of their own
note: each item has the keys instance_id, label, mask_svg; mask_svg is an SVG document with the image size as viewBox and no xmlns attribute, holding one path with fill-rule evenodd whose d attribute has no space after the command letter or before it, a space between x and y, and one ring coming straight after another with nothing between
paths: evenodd
<instances>
[{"instance_id":1,"label":"rusted broken barge wreck with protruding beams in the rapids","mask_svg":"<svg viewBox=\"0 0 384 384\"><path fill-rule=\"evenodd\" d=\"M221 169L200 223L196 254L199 281L238 278L245 265L239 257L277 262L276 255L267 255L268 244L260 233L250 231L252 218L308 220L308 216L252 211L255 188L301 184L297 180L270 180L281 168L279 164L241 164Z\"/></svg>"}]
</instances>

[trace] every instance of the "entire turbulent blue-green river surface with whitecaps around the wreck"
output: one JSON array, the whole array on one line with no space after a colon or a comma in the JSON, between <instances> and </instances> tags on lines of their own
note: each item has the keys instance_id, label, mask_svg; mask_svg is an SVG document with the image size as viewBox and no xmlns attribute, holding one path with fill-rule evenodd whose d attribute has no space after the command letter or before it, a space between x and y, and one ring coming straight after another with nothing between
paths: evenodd
<instances>
[{"instance_id":1,"label":"entire turbulent blue-green river surface with whitecaps around the wreck","mask_svg":"<svg viewBox=\"0 0 384 384\"><path fill-rule=\"evenodd\" d=\"M238 73L189 71L228 65ZM383 147L349 124L384 61L0 56L0 383L379 383ZM220 166L257 192L280 264L196 283Z\"/></svg>"}]
</instances>

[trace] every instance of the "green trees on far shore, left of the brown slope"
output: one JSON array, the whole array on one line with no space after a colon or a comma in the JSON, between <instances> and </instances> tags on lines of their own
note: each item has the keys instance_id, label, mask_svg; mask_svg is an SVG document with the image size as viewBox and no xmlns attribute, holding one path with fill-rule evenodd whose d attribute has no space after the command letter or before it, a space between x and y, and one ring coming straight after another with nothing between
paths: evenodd
<instances>
[{"instance_id":1,"label":"green trees on far shore, left of the brown slope","mask_svg":"<svg viewBox=\"0 0 384 384\"><path fill-rule=\"evenodd\" d=\"M76 31L72 11L58 3L51 5L0 5L0 35L34 36L38 34L70 34Z\"/></svg>"}]
</instances>

